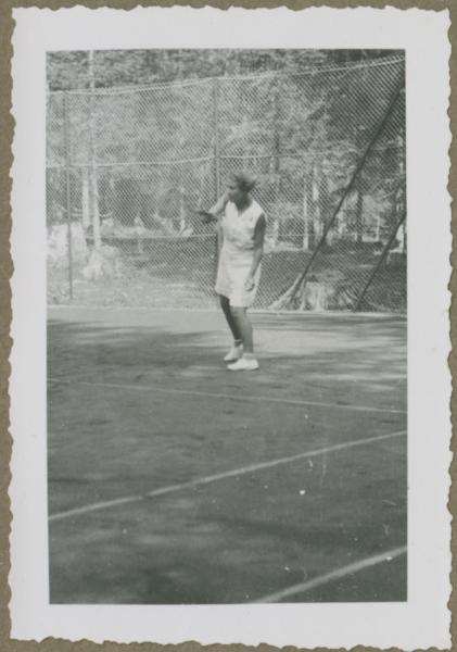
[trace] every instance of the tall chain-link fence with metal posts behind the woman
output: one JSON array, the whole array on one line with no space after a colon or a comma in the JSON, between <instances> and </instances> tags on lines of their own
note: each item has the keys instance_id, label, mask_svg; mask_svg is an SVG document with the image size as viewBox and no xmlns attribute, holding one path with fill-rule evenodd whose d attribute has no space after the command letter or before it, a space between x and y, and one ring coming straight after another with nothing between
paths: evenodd
<instances>
[{"instance_id":1,"label":"tall chain-link fence with metal posts behind the woman","mask_svg":"<svg viewBox=\"0 0 457 652\"><path fill-rule=\"evenodd\" d=\"M231 173L267 216L257 309L406 308L404 61L51 92L51 303L214 305L196 212Z\"/></svg>"}]
</instances>

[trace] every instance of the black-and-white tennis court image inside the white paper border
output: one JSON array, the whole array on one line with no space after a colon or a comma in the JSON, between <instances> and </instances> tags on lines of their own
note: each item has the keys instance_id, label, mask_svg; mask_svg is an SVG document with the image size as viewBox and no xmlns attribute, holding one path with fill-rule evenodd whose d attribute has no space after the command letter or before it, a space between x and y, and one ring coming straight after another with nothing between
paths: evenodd
<instances>
[{"instance_id":1,"label":"black-and-white tennis court image inside the white paper border","mask_svg":"<svg viewBox=\"0 0 457 652\"><path fill-rule=\"evenodd\" d=\"M43 52L49 605L407 610L406 46L80 42Z\"/></svg>"}]
</instances>

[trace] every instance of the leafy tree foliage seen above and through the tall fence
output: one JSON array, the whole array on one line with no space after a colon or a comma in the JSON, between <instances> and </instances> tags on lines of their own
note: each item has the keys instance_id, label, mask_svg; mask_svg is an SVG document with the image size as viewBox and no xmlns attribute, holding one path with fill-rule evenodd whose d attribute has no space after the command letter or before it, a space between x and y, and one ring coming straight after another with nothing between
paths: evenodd
<instances>
[{"instance_id":1,"label":"leafy tree foliage seen above and through the tall fence","mask_svg":"<svg viewBox=\"0 0 457 652\"><path fill-rule=\"evenodd\" d=\"M196 208L214 201L217 121L221 184L230 172L250 168L258 177L259 201L282 225L278 237L287 239L294 221L300 241L322 230L385 114L403 66L386 65L381 74L371 63L392 54L99 51L91 95L87 52L53 52L48 55L48 87L79 89L67 96L68 155L73 164L86 167L96 155L99 199L120 223L134 224L138 217L147 225L164 217L191 223ZM366 65L351 67L354 62ZM63 118L63 95L52 93L50 166L65 160ZM394 197L403 181L403 127L404 116L396 116L367 160L335 223L341 237L361 235L373 224L381 234L395 220Z\"/></svg>"}]
</instances>

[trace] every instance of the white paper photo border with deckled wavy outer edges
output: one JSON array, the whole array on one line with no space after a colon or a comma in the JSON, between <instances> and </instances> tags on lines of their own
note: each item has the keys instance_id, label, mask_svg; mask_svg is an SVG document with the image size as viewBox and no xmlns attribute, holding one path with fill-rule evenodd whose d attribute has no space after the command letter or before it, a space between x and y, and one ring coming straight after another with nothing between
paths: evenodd
<instances>
[{"instance_id":1,"label":"white paper photo border with deckled wavy outer edges","mask_svg":"<svg viewBox=\"0 0 457 652\"><path fill-rule=\"evenodd\" d=\"M15 9L13 35L10 604L12 638L450 647L448 11ZM148 48L406 51L408 601L224 606L51 605L46 435L46 52Z\"/></svg>"}]
</instances>

